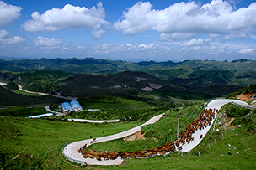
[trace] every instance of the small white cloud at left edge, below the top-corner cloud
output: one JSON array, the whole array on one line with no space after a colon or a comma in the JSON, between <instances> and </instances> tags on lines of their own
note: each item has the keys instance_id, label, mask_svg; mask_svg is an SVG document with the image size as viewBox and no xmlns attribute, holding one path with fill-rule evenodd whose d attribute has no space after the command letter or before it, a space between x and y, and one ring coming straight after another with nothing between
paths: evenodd
<instances>
[{"instance_id":1,"label":"small white cloud at left edge, below the top-corner cloud","mask_svg":"<svg viewBox=\"0 0 256 170\"><path fill-rule=\"evenodd\" d=\"M8 35L8 32L4 29L0 30L0 43L1 44L22 44L26 41L21 36L15 36L13 38L10 38Z\"/></svg>"}]
</instances>

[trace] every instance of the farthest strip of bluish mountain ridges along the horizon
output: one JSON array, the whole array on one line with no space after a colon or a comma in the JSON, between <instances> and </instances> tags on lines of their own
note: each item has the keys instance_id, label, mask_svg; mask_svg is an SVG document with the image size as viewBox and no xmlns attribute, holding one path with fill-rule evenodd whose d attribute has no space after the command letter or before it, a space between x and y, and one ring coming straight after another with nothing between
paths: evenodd
<instances>
[{"instance_id":1,"label":"farthest strip of bluish mountain ridges along the horizon","mask_svg":"<svg viewBox=\"0 0 256 170\"><path fill-rule=\"evenodd\" d=\"M0 59L0 70L61 70L70 73L116 73L124 70L148 70L156 68L173 68L188 66L193 70L256 70L255 60L239 59L232 62L215 60L185 60L175 63L173 61L155 62L141 61L138 63L121 60L106 59Z\"/></svg>"}]
</instances>

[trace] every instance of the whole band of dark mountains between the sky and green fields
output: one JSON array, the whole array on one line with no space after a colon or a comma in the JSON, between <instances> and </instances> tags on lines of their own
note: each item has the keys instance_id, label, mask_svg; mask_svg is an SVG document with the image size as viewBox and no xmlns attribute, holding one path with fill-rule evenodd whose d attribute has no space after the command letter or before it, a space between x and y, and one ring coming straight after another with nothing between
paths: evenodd
<instances>
[{"instance_id":1,"label":"whole band of dark mountains between the sky and green fields","mask_svg":"<svg viewBox=\"0 0 256 170\"><path fill-rule=\"evenodd\" d=\"M256 61L0 60L0 81L8 83L6 89L20 84L24 90L80 99L89 95L205 99L256 84Z\"/></svg>"}]
</instances>

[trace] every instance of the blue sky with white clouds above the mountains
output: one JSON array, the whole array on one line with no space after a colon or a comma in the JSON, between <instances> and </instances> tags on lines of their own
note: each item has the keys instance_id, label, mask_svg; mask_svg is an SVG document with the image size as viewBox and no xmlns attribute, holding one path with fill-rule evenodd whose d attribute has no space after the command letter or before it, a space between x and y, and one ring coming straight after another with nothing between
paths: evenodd
<instances>
[{"instance_id":1,"label":"blue sky with white clouds above the mountains","mask_svg":"<svg viewBox=\"0 0 256 170\"><path fill-rule=\"evenodd\" d=\"M247 0L0 1L0 59L256 59Z\"/></svg>"}]
</instances>

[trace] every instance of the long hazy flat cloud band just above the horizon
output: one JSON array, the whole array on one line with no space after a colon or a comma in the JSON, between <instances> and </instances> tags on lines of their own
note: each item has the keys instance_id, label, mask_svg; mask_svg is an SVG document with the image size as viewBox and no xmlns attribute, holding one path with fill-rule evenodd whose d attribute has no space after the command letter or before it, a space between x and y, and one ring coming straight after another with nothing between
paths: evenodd
<instances>
[{"instance_id":1,"label":"long hazy flat cloud band just above the horizon","mask_svg":"<svg viewBox=\"0 0 256 170\"><path fill-rule=\"evenodd\" d=\"M194 40L195 46L191 46L193 41L188 43L188 46L173 47L168 44L98 44L97 46L78 46L69 49L71 54L80 54L94 56L100 59L121 59L121 60L184 60L184 59L233 59L237 54L237 49L230 49L219 45L211 46L204 45L201 39ZM205 39L203 39L205 41ZM189 46L190 45L190 46ZM251 54L252 55L252 54ZM249 57L251 57L249 55Z\"/></svg>"}]
</instances>

